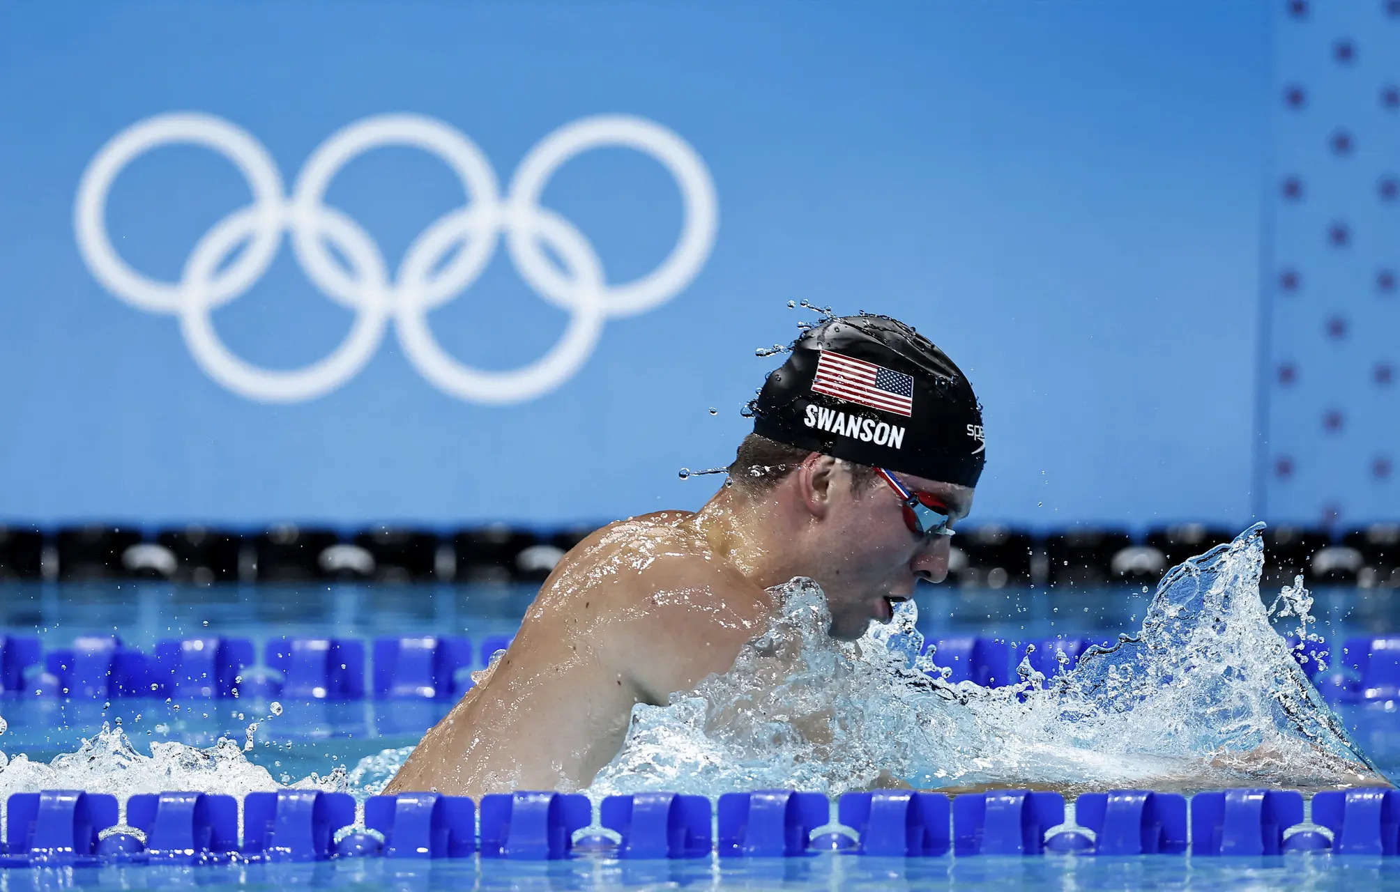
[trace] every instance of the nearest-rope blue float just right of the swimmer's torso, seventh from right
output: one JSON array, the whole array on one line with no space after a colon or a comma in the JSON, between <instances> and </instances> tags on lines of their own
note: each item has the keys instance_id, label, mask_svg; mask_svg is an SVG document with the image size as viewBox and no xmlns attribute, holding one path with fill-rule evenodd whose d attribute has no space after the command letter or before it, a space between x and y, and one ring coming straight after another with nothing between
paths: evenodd
<instances>
[{"instance_id":1,"label":"nearest-rope blue float just right of the swimmer's torso, seventh from right","mask_svg":"<svg viewBox=\"0 0 1400 892\"><path fill-rule=\"evenodd\" d=\"M622 837L620 858L696 858L710 854L710 800L637 793L603 800L599 821Z\"/></svg>"}]
</instances>

